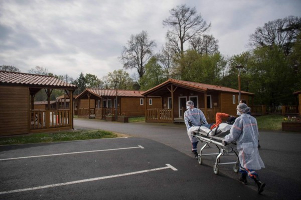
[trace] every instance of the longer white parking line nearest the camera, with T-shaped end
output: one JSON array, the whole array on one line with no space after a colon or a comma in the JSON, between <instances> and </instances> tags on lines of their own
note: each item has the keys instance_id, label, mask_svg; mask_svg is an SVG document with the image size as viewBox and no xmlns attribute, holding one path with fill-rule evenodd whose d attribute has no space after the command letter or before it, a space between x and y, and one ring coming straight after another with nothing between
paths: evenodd
<instances>
[{"instance_id":1,"label":"longer white parking line nearest the camera, with T-shaped end","mask_svg":"<svg viewBox=\"0 0 301 200\"><path fill-rule=\"evenodd\" d=\"M43 185L43 186L37 186L37 187L29 187L29 188L24 188L24 189L1 191L0 194L29 191L29 190L35 190L35 189L43 189L43 188L48 188L48 187L57 187L57 186L62 186L62 185L76 184L76 183L81 183L81 182L89 182L89 181L94 181L94 180L102 180L102 179L107 179L107 178L114 178L114 177L120 177L120 176L125 176L125 175L133 175L133 174L137 174L137 173L145 173L145 172L149 172L149 171L157 171L157 170L168 169L168 168L171 168L173 170L178 170L170 164L166 164L166 165L167 166L160 167L160 168L146 169L146 170L134 171L134 172L129 172L129 173L121 173L121 174L116 174L116 175L88 178L88 179L76 180L76 181L71 181L71 182L63 182L63 183L49 184L49 185Z\"/></svg>"}]
</instances>

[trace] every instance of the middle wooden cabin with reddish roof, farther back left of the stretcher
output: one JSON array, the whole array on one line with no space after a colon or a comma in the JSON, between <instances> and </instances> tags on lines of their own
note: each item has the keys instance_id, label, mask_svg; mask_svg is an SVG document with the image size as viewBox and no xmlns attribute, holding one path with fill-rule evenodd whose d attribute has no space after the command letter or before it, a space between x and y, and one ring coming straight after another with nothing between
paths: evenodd
<instances>
[{"instance_id":1,"label":"middle wooden cabin with reddish roof, farther back left of the stretcher","mask_svg":"<svg viewBox=\"0 0 301 200\"><path fill-rule=\"evenodd\" d=\"M141 95L142 92L138 90L87 88L76 97L79 106L78 116L100 119L108 114L129 117L144 116L145 108L151 109L161 105L161 98L159 96L144 97Z\"/></svg>"}]
</instances>

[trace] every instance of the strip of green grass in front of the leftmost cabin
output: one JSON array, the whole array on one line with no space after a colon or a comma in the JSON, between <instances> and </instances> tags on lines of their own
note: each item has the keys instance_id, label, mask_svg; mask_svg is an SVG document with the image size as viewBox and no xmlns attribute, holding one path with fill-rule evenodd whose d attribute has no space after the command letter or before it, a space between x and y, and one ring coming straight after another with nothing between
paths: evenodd
<instances>
[{"instance_id":1,"label":"strip of green grass in front of the leftmost cabin","mask_svg":"<svg viewBox=\"0 0 301 200\"><path fill-rule=\"evenodd\" d=\"M116 133L105 130L67 130L60 132L34 133L28 135L0 137L0 145L114 138L117 136L118 135Z\"/></svg>"}]
</instances>

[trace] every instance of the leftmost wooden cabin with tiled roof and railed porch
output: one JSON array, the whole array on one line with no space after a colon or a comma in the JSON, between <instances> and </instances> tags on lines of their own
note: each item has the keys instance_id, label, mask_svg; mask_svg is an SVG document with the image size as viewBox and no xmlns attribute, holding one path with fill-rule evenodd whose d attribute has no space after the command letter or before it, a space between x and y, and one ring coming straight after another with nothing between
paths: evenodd
<instances>
[{"instance_id":1,"label":"leftmost wooden cabin with tiled roof and railed porch","mask_svg":"<svg viewBox=\"0 0 301 200\"><path fill-rule=\"evenodd\" d=\"M0 136L73 128L72 106L50 108L53 89L63 89L73 99L77 86L48 75L0 71ZM48 96L47 109L35 109L40 90Z\"/></svg>"}]
</instances>

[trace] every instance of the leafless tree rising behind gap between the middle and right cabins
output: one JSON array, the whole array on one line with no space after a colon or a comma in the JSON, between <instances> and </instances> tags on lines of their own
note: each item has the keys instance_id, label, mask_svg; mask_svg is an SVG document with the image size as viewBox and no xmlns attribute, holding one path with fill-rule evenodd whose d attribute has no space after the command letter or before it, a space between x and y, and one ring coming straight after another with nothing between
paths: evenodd
<instances>
[{"instance_id":1,"label":"leafless tree rising behind gap between the middle and right cabins","mask_svg":"<svg viewBox=\"0 0 301 200\"><path fill-rule=\"evenodd\" d=\"M131 35L127 42L127 47L123 46L122 54L119 59L123 68L136 68L141 78L145 72L144 65L153 54L153 47L156 46L154 40L148 40L147 32Z\"/></svg>"}]
</instances>

